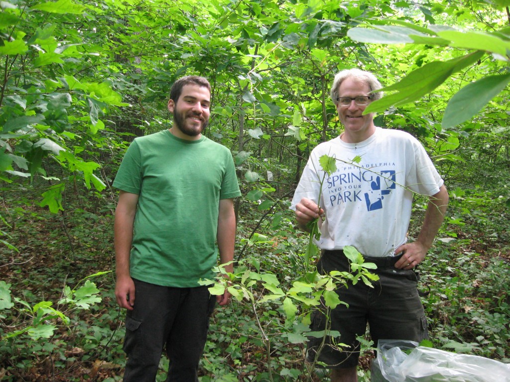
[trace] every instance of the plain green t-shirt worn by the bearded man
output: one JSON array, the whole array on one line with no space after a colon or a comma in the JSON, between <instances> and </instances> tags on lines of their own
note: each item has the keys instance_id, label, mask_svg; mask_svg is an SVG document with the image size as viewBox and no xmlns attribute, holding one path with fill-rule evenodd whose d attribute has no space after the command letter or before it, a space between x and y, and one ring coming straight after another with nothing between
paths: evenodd
<instances>
[{"instance_id":1,"label":"plain green t-shirt worn by the bearded man","mask_svg":"<svg viewBox=\"0 0 510 382\"><path fill-rule=\"evenodd\" d=\"M185 288L214 276L219 200L241 195L230 150L168 130L136 138L113 186L139 195L131 277Z\"/></svg>"}]
</instances>

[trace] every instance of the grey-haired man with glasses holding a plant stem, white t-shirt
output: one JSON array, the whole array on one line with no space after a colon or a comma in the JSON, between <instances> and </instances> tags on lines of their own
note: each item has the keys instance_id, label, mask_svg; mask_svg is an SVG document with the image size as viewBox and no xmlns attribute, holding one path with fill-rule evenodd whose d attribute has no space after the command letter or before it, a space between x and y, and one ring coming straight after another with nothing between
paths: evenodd
<instances>
[{"instance_id":1,"label":"grey-haired man with glasses holding a plant stem, white t-shirt","mask_svg":"<svg viewBox=\"0 0 510 382\"><path fill-rule=\"evenodd\" d=\"M365 334L367 322L375 345L379 339L420 342L427 337L414 267L425 258L443 222L448 193L412 135L376 127L372 114L363 115L370 102L380 98L381 93L375 92L380 88L372 73L359 69L335 76L331 98L344 131L312 151L292 200L302 229L321 217L319 272L349 271L342 251L347 245L377 265L374 272L379 280L373 288L359 282L337 290L340 301L348 304L338 305L329 317L330 329L340 332L340 338L327 338L322 348L322 338L308 343L309 360L318 357L332 369L331 382L357 380L356 337ZM319 163L323 155L336 159L335 173L324 174ZM428 206L418 237L408 242L415 193L428 196ZM324 330L327 320L316 312L312 330Z\"/></svg>"}]
</instances>

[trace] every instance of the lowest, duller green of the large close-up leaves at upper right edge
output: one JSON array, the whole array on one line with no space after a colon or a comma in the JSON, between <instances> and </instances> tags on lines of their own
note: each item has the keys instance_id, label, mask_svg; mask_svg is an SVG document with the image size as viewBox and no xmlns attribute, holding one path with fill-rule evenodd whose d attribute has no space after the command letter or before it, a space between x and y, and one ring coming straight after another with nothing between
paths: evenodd
<instances>
[{"instance_id":1,"label":"lowest, duller green of the large close-up leaves at upper right edge","mask_svg":"<svg viewBox=\"0 0 510 382\"><path fill-rule=\"evenodd\" d=\"M452 128L474 117L491 99L510 82L510 74L492 75L466 85L446 106L441 125Z\"/></svg>"}]
</instances>

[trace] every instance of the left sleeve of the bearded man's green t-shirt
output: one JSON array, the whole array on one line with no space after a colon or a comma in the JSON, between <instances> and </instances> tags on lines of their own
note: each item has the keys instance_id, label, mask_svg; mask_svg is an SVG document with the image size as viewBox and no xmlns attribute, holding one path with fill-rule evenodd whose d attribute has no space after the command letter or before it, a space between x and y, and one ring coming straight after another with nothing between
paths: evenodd
<instances>
[{"instance_id":1,"label":"left sleeve of the bearded man's green t-shirt","mask_svg":"<svg viewBox=\"0 0 510 382\"><path fill-rule=\"evenodd\" d=\"M140 195L142 186L141 154L136 140L127 148L113 186L127 193Z\"/></svg>"}]
</instances>

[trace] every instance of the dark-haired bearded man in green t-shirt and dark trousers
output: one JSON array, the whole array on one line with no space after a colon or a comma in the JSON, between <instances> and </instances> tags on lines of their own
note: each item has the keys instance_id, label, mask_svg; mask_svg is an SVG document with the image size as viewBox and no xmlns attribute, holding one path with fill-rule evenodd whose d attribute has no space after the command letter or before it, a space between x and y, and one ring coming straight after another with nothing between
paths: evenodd
<instances>
[{"instance_id":1,"label":"dark-haired bearded man in green t-shirt and dark trousers","mask_svg":"<svg viewBox=\"0 0 510 382\"><path fill-rule=\"evenodd\" d=\"M113 183L115 296L127 309L124 382L154 382L164 348L167 381L198 381L209 317L216 302L230 302L226 290L214 297L198 285L214 277L218 252L220 263L233 260L233 198L241 195L230 150L202 135L210 101L207 79L177 80L172 127L136 138Z\"/></svg>"}]
</instances>

